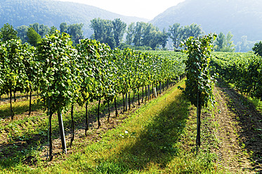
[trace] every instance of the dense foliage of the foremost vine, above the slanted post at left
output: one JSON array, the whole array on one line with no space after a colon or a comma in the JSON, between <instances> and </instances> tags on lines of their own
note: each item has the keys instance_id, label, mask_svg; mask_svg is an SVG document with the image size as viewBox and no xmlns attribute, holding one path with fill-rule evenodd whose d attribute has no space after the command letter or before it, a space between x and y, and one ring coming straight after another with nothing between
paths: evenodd
<instances>
[{"instance_id":1,"label":"dense foliage of the foremost vine, above the slanted post at left","mask_svg":"<svg viewBox=\"0 0 262 174\"><path fill-rule=\"evenodd\" d=\"M77 50L70 45L70 36L58 31L42 39L37 50L42 70L41 97L52 113L62 112L79 91Z\"/></svg>"}]
</instances>

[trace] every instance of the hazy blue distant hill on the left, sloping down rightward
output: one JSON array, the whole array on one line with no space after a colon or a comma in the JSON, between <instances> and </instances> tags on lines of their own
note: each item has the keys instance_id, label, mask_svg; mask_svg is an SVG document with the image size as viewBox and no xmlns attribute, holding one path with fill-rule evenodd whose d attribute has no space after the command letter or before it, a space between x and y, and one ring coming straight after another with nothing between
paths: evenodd
<instances>
[{"instance_id":1,"label":"hazy blue distant hill on the left, sloping down rightward","mask_svg":"<svg viewBox=\"0 0 262 174\"><path fill-rule=\"evenodd\" d=\"M61 22L67 24L84 23L84 35L91 36L93 31L89 28L90 20L102 18L114 20L120 18L130 24L131 22L148 20L143 18L128 17L111 13L94 6L77 4L55 0L1 0L0 1L0 27L5 23L18 27L20 25L30 25L34 22L55 26L59 29Z\"/></svg>"}]
</instances>

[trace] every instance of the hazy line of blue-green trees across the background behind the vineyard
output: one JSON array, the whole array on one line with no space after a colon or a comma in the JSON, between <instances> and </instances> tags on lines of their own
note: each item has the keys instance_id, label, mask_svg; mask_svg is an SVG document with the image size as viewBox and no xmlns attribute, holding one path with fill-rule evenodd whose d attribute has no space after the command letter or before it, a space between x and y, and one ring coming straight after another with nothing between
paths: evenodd
<instances>
[{"instance_id":1,"label":"hazy line of blue-green trees across the background behind the vineyard","mask_svg":"<svg viewBox=\"0 0 262 174\"><path fill-rule=\"evenodd\" d=\"M81 39L84 39L83 26L82 23L67 25L67 22L62 22L59 29L60 32L70 34L72 44L76 46ZM170 25L169 29L160 31L158 27L147 22L132 22L130 25L126 25L119 18L114 20L94 18L91 20L89 27L93 29L91 39L106 43L110 48L133 48L135 50L157 50L159 48L165 50L169 39L173 43L173 48L178 50L181 49L179 47L181 41L188 39L190 36L197 38L197 36L204 34L200 25L195 23L185 26L175 23ZM47 25L37 22L29 26L22 25L16 29L12 25L5 24L0 29L0 39L6 41L10 38L20 38L23 44L27 42L32 46L37 46L37 42L44 38L46 34L53 34L57 29L57 27L49 28ZM235 46L232 36L231 32L226 35L220 32L216 41L214 41L214 51L247 51L251 45L254 45L249 44L249 46L247 38L243 38L243 41Z\"/></svg>"}]
</instances>

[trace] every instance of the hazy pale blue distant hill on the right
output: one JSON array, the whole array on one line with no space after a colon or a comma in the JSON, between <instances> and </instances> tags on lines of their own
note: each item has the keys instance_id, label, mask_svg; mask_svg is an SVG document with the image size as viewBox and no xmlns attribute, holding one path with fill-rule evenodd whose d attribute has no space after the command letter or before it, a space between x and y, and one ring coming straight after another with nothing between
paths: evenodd
<instances>
[{"instance_id":1,"label":"hazy pale blue distant hill on the right","mask_svg":"<svg viewBox=\"0 0 262 174\"><path fill-rule=\"evenodd\" d=\"M229 31L236 44L242 36L249 41L262 39L262 1L258 0L185 0L157 15L152 21L160 29L178 22L201 25L206 34Z\"/></svg>"}]
</instances>

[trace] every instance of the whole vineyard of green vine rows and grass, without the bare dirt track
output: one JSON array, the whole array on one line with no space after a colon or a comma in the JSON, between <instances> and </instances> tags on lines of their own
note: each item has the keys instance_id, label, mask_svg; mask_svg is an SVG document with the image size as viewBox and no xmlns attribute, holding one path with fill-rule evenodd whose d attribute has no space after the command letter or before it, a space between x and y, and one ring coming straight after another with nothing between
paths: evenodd
<instances>
[{"instance_id":1,"label":"whole vineyard of green vine rows and grass, without the bare dirt track","mask_svg":"<svg viewBox=\"0 0 262 174\"><path fill-rule=\"evenodd\" d=\"M211 39L186 54L112 50L91 39L74 48L59 32L37 48L0 43L0 173L224 173L217 124L228 113L217 104L223 94L211 74L259 103L262 59L211 53ZM257 167L255 110L246 123L256 121L249 125L256 150L248 152Z\"/></svg>"}]
</instances>

